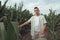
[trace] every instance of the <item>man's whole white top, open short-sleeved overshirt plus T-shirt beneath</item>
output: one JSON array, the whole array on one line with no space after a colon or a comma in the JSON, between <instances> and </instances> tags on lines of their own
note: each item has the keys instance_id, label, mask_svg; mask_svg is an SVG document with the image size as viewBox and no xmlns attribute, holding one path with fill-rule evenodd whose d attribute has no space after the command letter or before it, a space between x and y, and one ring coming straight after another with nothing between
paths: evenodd
<instances>
[{"instance_id":1,"label":"man's whole white top, open short-sleeved overshirt plus T-shirt beneath","mask_svg":"<svg viewBox=\"0 0 60 40\"><path fill-rule=\"evenodd\" d=\"M31 35L34 35L34 31L40 32L43 24L47 23L43 15L34 15L28 20L28 22L31 22L31 25L33 23L33 26L31 27Z\"/></svg>"}]
</instances>

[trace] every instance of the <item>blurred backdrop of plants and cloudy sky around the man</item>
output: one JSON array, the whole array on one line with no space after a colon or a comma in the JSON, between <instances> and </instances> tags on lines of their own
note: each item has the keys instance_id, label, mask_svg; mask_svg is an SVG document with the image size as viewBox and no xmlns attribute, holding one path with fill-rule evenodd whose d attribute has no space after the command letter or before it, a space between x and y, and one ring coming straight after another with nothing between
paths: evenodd
<instances>
[{"instance_id":1,"label":"blurred backdrop of plants and cloudy sky around the man","mask_svg":"<svg viewBox=\"0 0 60 40\"><path fill-rule=\"evenodd\" d=\"M34 15L37 6L47 20L47 40L60 40L60 0L0 0L0 40L32 40L31 26L18 29Z\"/></svg>"}]
</instances>

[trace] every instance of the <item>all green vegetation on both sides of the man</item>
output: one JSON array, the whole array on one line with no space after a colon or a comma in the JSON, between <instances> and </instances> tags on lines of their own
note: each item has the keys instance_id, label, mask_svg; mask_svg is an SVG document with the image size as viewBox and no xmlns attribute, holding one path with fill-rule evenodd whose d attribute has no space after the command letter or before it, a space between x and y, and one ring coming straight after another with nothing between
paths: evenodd
<instances>
[{"instance_id":1,"label":"all green vegetation on both sides of the man","mask_svg":"<svg viewBox=\"0 0 60 40\"><path fill-rule=\"evenodd\" d=\"M17 8L16 4L14 7L6 7L7 2L8 0L1 5L0 1L0 40L22 40L22 34L25 30L30 29L30 24L21 30L17 26L27 21L32 16L32 13L27 9L22 10L23 3L20 3ZM49 9L49 11L48 16L45 15L47 20L47 39L60 40L60 14L57 15L52 9Z\"/></svg>"}]
</instances>

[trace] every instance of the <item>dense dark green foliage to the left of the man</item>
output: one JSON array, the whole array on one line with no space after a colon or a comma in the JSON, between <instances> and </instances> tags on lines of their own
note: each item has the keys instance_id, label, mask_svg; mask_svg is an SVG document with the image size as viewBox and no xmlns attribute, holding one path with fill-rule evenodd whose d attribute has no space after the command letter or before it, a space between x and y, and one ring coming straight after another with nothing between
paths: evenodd
<instances>
[{"instance_id":1,"label":"dense dark green foliage to the left of the man","mask_svg":"<svg viewBox=\"0 0 60 40\"><path fill-rule=\"evenodd\" d=\"M18 6L18 9L16 7L16 4L14 5L14 7L10 6L9 8L7 8L6 7L7 1L8 0L6 0L3 5L0 5L0 11L1 11L0 14L2 15L0 16L0 22L3 22L4 28L5 28L4 29L5 39L2 38L2 40L21 40L22 38L21 32L19 32L19 29L17 28L17 26L20 23L23 23L26 20L28 20L32 16L32 14L29 12L29 10L26 10L26 9L22 10L23 8L22 3L20 4L20 6ZM2 36L0 36L0 38L1 37Z\"/></svg>"}]
</instances>

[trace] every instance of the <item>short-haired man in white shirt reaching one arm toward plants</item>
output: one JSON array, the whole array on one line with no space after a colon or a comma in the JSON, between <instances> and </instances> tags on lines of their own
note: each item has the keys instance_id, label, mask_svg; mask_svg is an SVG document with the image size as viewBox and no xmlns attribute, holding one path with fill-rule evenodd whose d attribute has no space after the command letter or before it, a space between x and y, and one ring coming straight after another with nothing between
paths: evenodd
<instances>
[{"instance_id":1,"label":"short-haired man in white shirt reaching one arm toward plants","mask_svg":"<svg viewBox=\"0 0 60 40\"><path fill-rule=\"evenodd\" d=\"M41 37L44 36L47 22L45 20L45 17L39 13L38 7L34 7L34 12L35 12L34 16L32 16L28 21L19 25L18 27L21 28L24 25L31 23L32 39L33 40L45 40L44 38L41 38Z\"/></svg>"}]
</instances>

